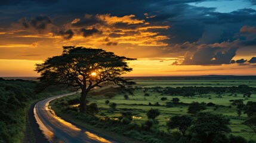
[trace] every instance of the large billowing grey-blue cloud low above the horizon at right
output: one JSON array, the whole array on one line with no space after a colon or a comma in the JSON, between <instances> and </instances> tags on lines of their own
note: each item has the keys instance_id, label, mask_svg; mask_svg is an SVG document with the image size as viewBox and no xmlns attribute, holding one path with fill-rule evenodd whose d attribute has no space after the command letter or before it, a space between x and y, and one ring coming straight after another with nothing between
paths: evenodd
<instances>
[{"instance_id":1,"label":"large billowing grey-blue cloud low above the horizon at right","mask_svg":"<svg viewBox=\"0 0 256 143\"><path fill-rule=\"evenodd\" d=\"M236 55L237 48L229 48L226 51L223 49L214 48L199 48L193 54L193 57L184 57L181 65L221 65L230 64L233 57Z\"/></svg>"}]
</instances>

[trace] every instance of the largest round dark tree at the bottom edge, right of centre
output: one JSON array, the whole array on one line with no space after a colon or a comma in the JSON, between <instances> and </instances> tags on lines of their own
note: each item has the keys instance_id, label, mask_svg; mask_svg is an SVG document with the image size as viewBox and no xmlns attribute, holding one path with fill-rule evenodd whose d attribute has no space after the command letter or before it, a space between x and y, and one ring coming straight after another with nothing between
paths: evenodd
<instances>
[{"instance_id":1,"label":"largest round dark tree at the bottom edge, right of centre","mask_svg":"<svg viewBox=\"0 0 256 143\"><path fill-rule=\"evenodd\" d=\"M193 121L190 132L196 133L201 142L212 142L221 133L231 132L229 124L230 119L221 114L201 112Z\"/></svg>"}]
</instances>

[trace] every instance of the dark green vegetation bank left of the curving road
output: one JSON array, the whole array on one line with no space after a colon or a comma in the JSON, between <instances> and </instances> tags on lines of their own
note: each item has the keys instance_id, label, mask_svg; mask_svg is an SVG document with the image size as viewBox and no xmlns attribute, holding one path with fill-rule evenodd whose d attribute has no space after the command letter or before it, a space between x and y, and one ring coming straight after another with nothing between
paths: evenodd
<instances>
[{"instance_id":1,"label":"dark green vegetation bank left of the curving road","mask_svg":"<svg viewBox=\"0 0 256 143\"><path fill-rule=\"evenodd\" d=\"M27 133L26 128L29 128L26 123L28 124L27 111L30 105L66 92L61 86L51 86L41 91L35 81L0 78L0 142L27 142L24 134Z\"/></svg>"}]
</instances>

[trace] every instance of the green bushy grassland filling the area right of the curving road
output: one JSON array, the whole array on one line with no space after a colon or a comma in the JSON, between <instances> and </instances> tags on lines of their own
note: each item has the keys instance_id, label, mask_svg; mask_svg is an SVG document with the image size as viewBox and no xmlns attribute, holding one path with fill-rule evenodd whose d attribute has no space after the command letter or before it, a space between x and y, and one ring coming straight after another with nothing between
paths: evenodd
<instances>
[{"instance_id":1,"label":"green bushy grassland filling the area right of the curving road","mask_svg":"<svg viewBox=\"0 0 256 143\"><path fill-rule=\"evenodd\" d=\"M89 92L89 114L79 112L79 95L54 100L50 105L69 122L144 142L256 141L253 86L219 86L216 81L211 86L181 87L150 83L155 85L148 81L146 86L135 86L133 95L118 92L113 86Z\"/></svg>"}]
</instances>

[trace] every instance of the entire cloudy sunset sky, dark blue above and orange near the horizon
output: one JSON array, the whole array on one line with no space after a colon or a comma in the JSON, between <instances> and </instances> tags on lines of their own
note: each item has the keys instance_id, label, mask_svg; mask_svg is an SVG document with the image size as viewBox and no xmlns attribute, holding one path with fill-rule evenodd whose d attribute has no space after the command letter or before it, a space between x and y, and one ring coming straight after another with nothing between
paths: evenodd
<instances>
[{"instance_id":1,"label":"entire cloudy sunset sky, dark blue above and orange near the horizon","mask_svg":"<svg viewBox=\"0 0 256 143\"><path fill-rule=\"evenodd\" d=\"M69 45L137 58L125 76L256 75L256 1L0 1L0 77Z\"/></svg>"}]
</instances>

